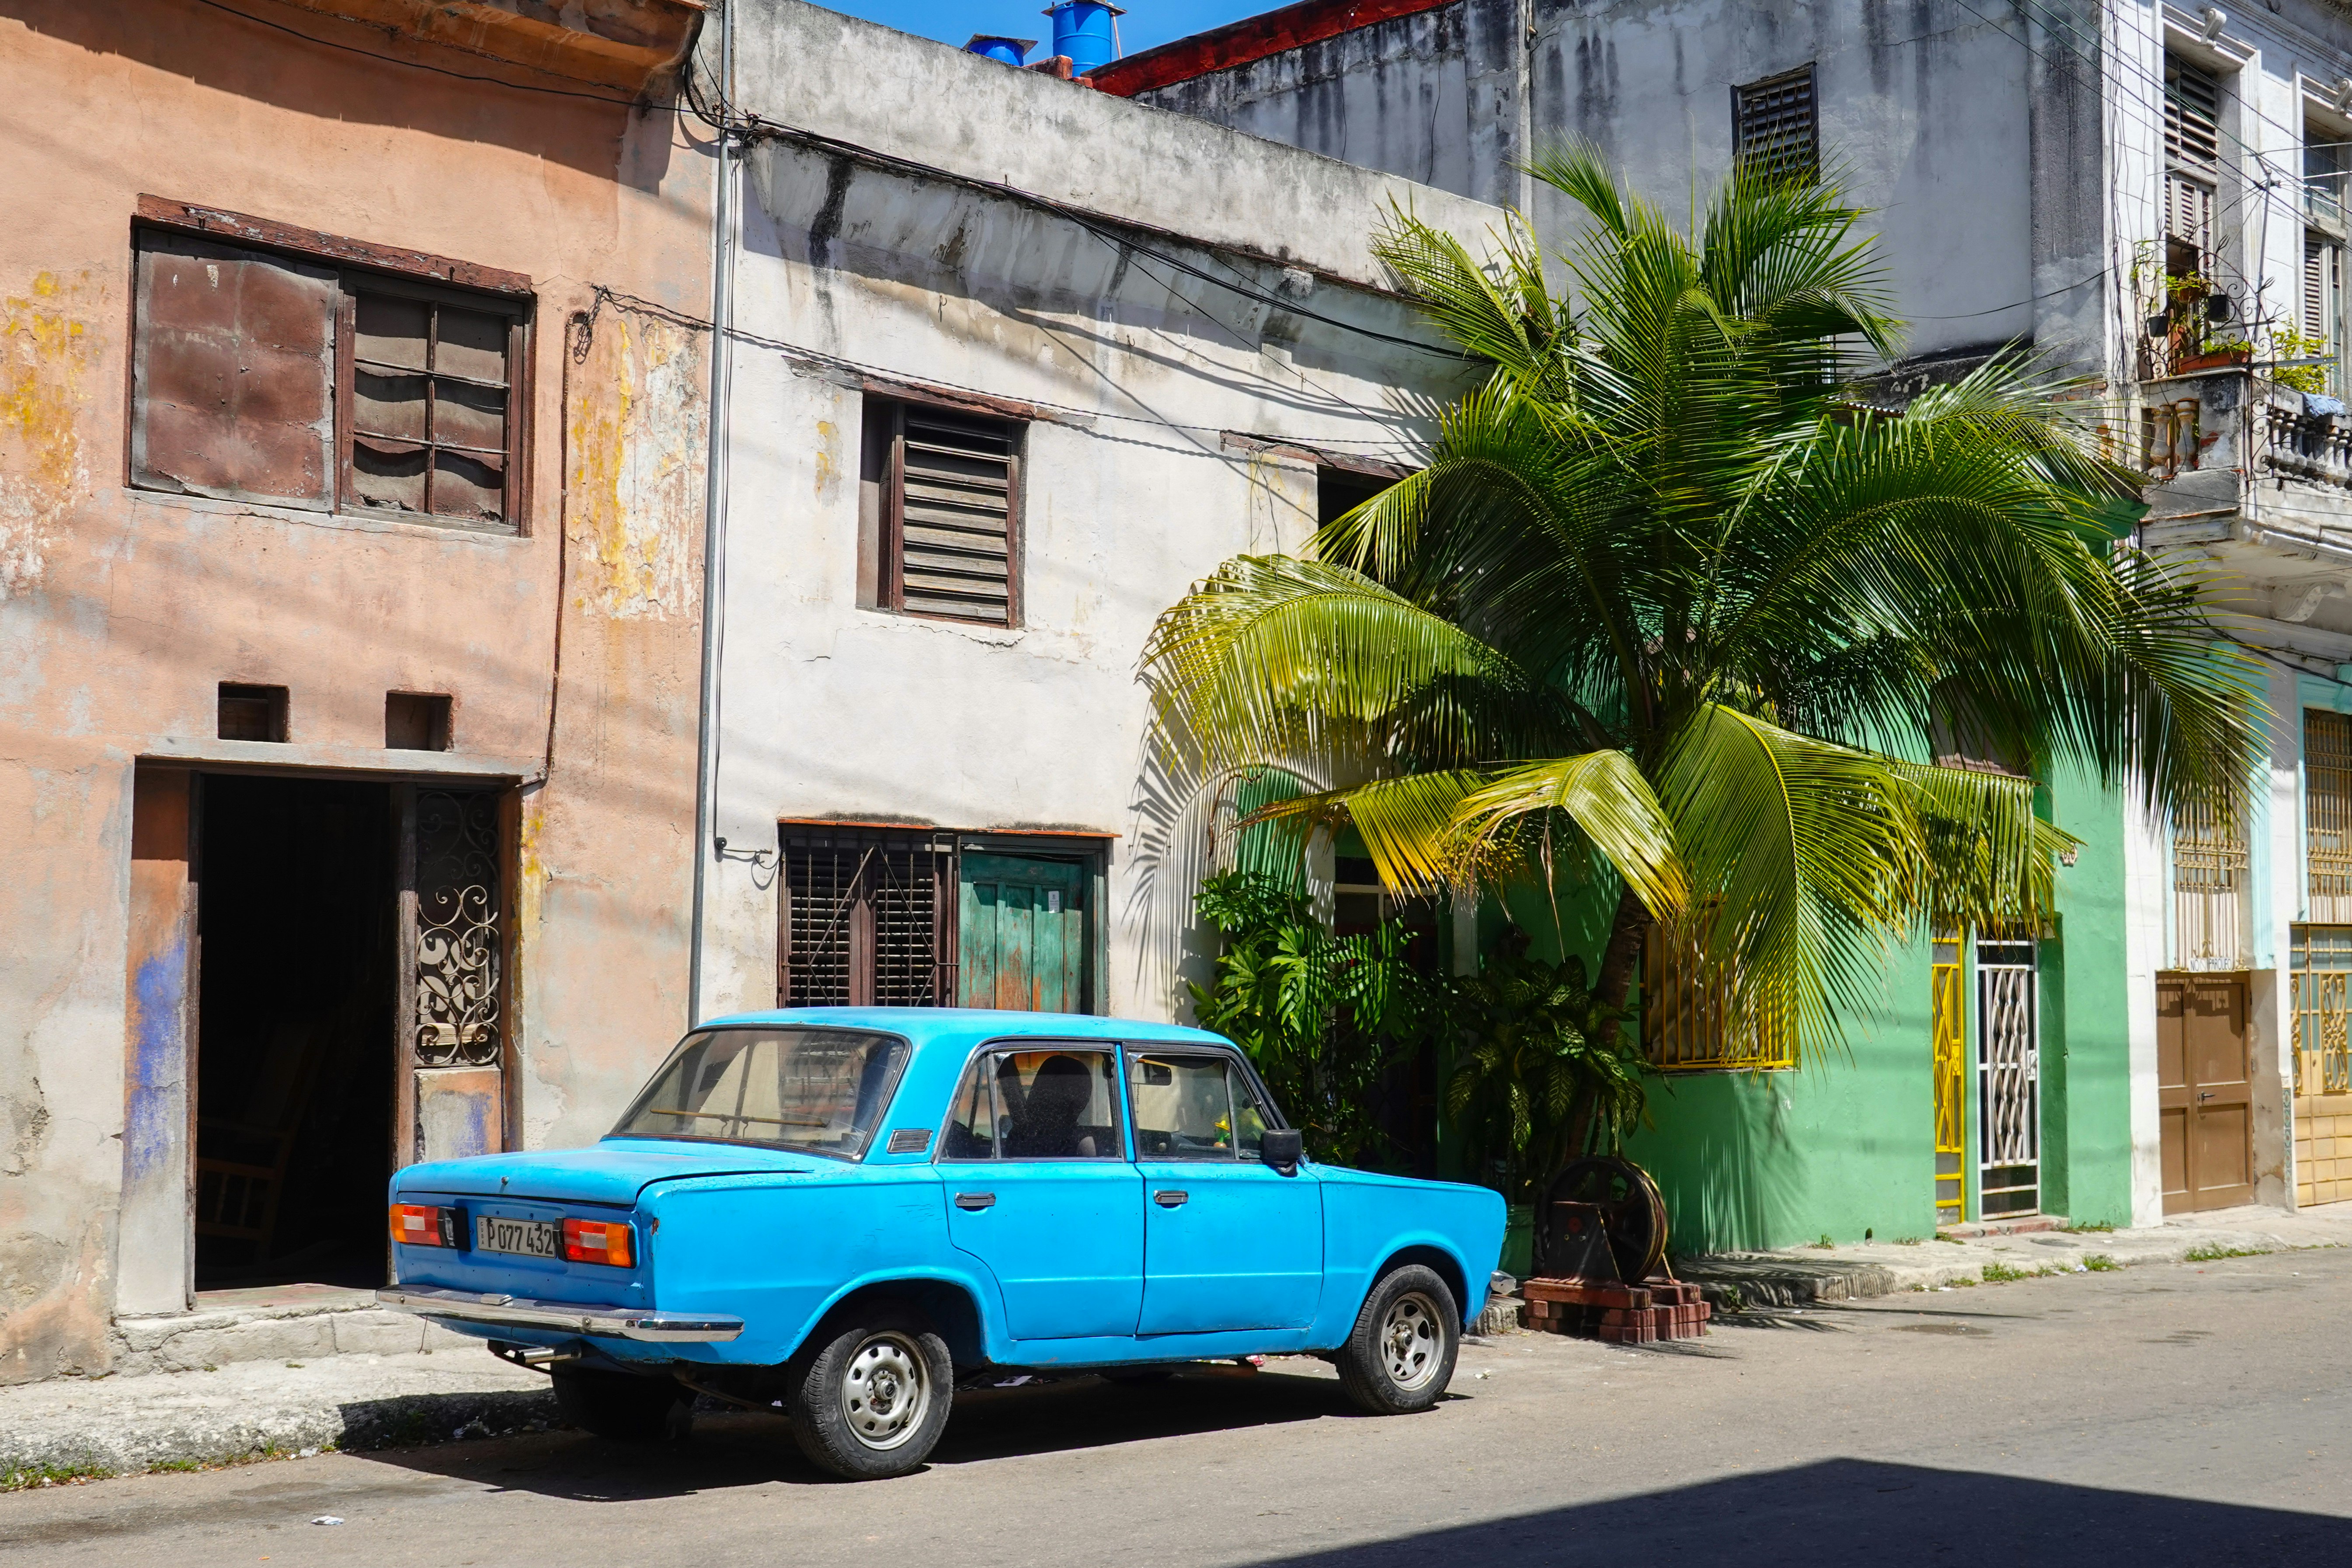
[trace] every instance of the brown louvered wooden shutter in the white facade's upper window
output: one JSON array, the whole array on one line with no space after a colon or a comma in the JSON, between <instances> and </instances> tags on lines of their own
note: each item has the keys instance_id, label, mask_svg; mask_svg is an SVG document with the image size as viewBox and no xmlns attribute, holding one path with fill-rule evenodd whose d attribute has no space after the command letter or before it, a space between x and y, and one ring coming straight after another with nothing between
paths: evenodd
<instances>
[{"instance_id":1,"label":"brown louvered wooden shutter in the white facade's upper window","mask_svg":"<svg viewBox=\"0 0 2352 1568\"><path fill-rule=\"evenodd\" d=\"M1014 625L1021 425L901 404L891 477L891 607Z\"/></svg>"}]
</instances>

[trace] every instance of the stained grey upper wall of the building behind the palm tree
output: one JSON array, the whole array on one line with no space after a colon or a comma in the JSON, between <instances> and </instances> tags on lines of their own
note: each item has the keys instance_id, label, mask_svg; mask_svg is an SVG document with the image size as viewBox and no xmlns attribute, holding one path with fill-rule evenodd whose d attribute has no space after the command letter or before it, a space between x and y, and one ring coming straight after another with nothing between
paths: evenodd
<instances>
[{"instance_id":1,"label":"stained grey upper wall of the building behind the palm tree","mask_svg":"<svg viewBox=\"0 0 2352 1568\"><path fill-rule=\"evenodd\" d=\"M1510 106L1470 85L1503 73L1517 9L1519 0L1458 0L1143 101L1515 200L1508 165L1524 153ZM1595 143L1679 216L1731 167L1731 87L1813 61L1820 143L1849 195L1877 209L1893 303L1915 322L1910 353L2030 336L2027 301L2039 292L2030 56L2011 7L1978 9L1959 0L1536 0L1524 66L1531 141ZM1550 190L1536 193L1534 214L1548 242L1571 233Z\"/></svg>"}]
</instances>

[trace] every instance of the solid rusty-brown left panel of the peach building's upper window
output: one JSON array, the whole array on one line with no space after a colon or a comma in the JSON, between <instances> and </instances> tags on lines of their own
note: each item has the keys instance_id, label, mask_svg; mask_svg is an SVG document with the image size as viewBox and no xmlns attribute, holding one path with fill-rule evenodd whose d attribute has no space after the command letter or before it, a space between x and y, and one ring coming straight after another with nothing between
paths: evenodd
<instances>
[{"instance_id":1,"label":"solid rusty-brown left panel of the peach building's upper window","mask_svg":"<svg viewBox=\"0 0 2352 1568\"><path fill-rule=\"evenodd\" d=\"M132 484L334 503L336 275L191 235L139 235Z\"/></svg>"}]
</instances>

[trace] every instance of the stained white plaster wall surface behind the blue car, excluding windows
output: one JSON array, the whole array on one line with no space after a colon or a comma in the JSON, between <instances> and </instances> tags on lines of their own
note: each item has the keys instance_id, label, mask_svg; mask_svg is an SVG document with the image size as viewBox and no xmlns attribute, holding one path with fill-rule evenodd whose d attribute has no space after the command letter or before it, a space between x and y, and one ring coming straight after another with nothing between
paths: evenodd
<instances>
[{"instance_id":1,"label":"stained white plaster wall surface behind the blue car, excluding windows","mask_svg":"<svg viewBox=\"0 0 2352 1568\"><path fill-rule=\"evenodd\" d=\"M1023 188L1061 181L1056 197L1098 197L1094 212L1240 235L1319 273L1164 233L1145 252L1127 230L793 141L762 143L746 172L736 322L802 353L736 346L715 830L731 846L774 846L795 818L1115 832L1108 1006L1167 1018L1204 832L1145 757L1136 661L1152 618L1221 559L1315 527L1312 465L1223 437L1402 451L1425 433L1461 364L1303 310L1428 341L1399 301L1338 282L1371 277L1381 197L1472 240L1496 214L811 7L764 5L743 26L750 113L847 134L851 89L903 110L875 82L924 82L953 125L861 139ZM861 374L1042 404L1018 628L858 607ZM774 1006L774 867L715 867L708 919L706 1011Z\"/></svg>"}]
</instances>

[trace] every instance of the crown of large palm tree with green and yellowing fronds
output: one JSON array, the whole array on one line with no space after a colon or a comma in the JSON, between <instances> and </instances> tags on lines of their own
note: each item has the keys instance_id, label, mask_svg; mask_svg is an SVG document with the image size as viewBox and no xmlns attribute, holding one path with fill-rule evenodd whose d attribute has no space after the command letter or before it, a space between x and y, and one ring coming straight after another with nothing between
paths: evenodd
<instances>
[{"instance_id":1,"label":"crown of large palm tree with green and yellowing fronds","mask_svg":"<svg viewBox=\"0 0 2352 1568\"><path fill-rule=\"evenodd\" d=\"M1534 877L1616 900L1738 1013L1835 1039L1922 922L2039 922L2070 839L2027 778L2232 811L2253 665L2201 588L2126 543L2136 475L2070 388L2002 355L1907 407L1875 240L1832 186L1736 174L1677 230L1588 150L1552 292L1524 223L1482 268L1409 214L1376 254L1484 386L1425 465L1301 557L1242 555L1145 649L1160 745L1261 816L1352 823L1397 891Z\"/></svg>"}]
</instances>

